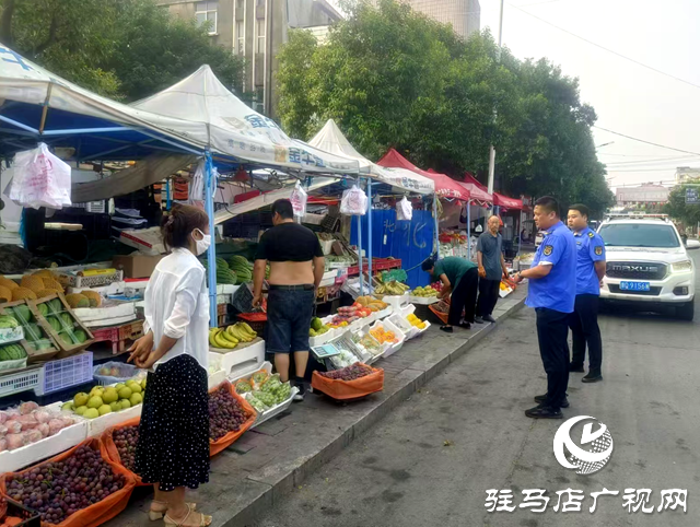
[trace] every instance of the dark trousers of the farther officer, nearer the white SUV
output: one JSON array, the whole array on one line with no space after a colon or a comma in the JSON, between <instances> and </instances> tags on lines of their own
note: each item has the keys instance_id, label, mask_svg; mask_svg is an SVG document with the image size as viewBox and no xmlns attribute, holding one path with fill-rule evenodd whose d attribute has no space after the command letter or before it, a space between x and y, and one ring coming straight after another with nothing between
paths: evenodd
<instances>
[{"instance_id":1,"label":"dark trousers of the farther officer, nearer the white SUV","mask_svg":"<svg viewBox=\"0 0 700 527\"><path fill-rule=\"evenodd\" d=\"M598 295L579 294L569 326L573 338L571 367L582 367L588 344L588 370L599 371L603 362L603 340L598 327Z\"/></svg>"}]
</instances>

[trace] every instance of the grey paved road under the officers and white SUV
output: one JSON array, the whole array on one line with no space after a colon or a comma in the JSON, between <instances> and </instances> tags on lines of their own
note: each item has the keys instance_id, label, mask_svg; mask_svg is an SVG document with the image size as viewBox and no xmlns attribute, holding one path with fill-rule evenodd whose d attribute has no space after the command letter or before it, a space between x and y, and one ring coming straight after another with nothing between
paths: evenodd
<instances>
[{"instance_id":1,"label":"grey paved road under the officers and white SUV","mask_svg":"<svg viewBox=\"0 0 700 527\"><path fill-rule=\"evenodd\" d=\"M534 323L527 308L506 320L256 527L700 525L700 321L602 317L605 382L584 385L582 374L572 374L564 410L593 415L612 434L609 464L591 476L555 459L561 421L523 414L545 387ZM551 496L544 514L486 511L487 489L512 490L517 505L523 489L537 488ZM568 488L585 493L582 512L552 511L557 491ZM603 488L620 494L600 497L591 514L590 493ZM651 489L655 506L662 490L687 489L688 512L629 514L628 488Z\"/></svg>"}]
</instances>

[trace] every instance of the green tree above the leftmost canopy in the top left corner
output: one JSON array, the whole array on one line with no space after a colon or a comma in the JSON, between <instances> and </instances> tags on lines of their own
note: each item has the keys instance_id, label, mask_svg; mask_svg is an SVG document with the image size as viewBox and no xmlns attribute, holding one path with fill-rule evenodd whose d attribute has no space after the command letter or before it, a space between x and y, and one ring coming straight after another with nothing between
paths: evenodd
<instances>
[{"instance_id":1,"label":"green tree above the leftmost canopy in the top left corner","mask_svg":"<svg viewBox=\"0 0 700 527\"><path fill-rule=\"evenodd\" d=\"M243 62L206 26L171 17L153 0L2 0L0 42L105 96L135 101L209 63L230 89Z\"/></svg>"}]
</instances>

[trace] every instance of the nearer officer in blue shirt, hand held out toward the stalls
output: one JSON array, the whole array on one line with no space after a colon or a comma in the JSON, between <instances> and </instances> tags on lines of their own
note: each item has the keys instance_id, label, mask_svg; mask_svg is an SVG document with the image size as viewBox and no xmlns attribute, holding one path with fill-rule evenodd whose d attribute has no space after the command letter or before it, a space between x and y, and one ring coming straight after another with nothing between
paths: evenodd
<instances>
[{"instance_id":1,"label":"nearer officer in blue shirt, hand held out toward the stalls","mask_svg":"<svg viewBox=\"0 0 700 527\"><path fill-rule=\"evenodd\" d=\"M535 224L545 237L533 267L515 274L529 280L526 305L537 314L539 354L547 373L547 394L535 397L539 405L525 411L535 419L561 419L569 385L569 318L576 295L576 244L559 218L559 203L546 196L535 202Z\"/></svg>"}]
</instances>

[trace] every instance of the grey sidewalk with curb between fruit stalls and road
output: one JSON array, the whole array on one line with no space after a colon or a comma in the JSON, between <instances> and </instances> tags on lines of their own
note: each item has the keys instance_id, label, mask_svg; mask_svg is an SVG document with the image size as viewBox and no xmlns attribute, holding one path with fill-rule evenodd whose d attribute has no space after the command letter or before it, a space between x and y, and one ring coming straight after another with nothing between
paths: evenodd
<instances>
[{"instance_id":1,"label":"grey sidewalk with curb between fruit stalls and road","mask_svg":"<svg viewBox=\"0 0 700 527\"><path fill-rule=\"evenodd\" d=\"M523 306L527 286L501 298L493 317L503 319ZM408 341L396 354L380 360L384 391L349 403L334 403L308 394L289 412L246 432L229 449L211 460L210 482L188 494L188 501L213 515L213 527L240 527L252 523L304 478L338 455L354 438L434 377L498 325L475 325L453 335L436 326ZM151 500L149 488L137 489L126 511L108 527L145 527Z\"/></svg>"}]
</instances>

